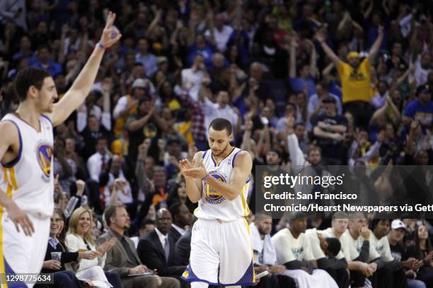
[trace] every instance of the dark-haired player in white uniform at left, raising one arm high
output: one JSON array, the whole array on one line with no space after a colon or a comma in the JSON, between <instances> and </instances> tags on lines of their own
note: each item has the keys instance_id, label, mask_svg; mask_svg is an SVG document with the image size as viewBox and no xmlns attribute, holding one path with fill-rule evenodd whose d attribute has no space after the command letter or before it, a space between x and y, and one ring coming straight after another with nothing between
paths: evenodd
<instances>
[{"instance_id":1,"label":"dark-haired player in white uniform at left, raising one arm high","mask_svg":"<svg viewBox=\"0 0 433 288\"><path fill-rule=\"evenodd\" d=\"M54 210L52 129L62 124L90 92L105 48L121 37L112 25L114 20L115 14L110 13L100 42L71 88L56 104L57 91L47 71L24 68L14 80L19 107L0 121L0 272L3 280L5 272L39 273L42 268ZM21 283L20 287L25 284Z\"/></svg>"}]
</instances>

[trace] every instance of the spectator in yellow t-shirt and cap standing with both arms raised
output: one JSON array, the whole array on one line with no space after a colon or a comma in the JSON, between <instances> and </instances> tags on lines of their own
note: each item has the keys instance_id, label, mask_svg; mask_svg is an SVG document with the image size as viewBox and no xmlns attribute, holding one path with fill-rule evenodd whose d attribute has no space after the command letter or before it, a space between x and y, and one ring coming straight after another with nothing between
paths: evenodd
<instances>
[{"instance_id":1,"label":"spectator in yellow t-shirt and cap standing with both arms raised","mask_svg":"<svg viewBox=\"0 0 433 288\"><path fill-rule=\"evenodd\" d=\"M357 124L364 128L368 126L372 109L369 104L371 100L371 64L382 43L383 27L379 26L379 36L376 38L369 55L361 60L358 52L347 54L347 62L342 61L325 42L325 35L321 32L316 34L316 39L321 43L325 53L333 61L340 75L342 83L342 102L345 111L350 112Z\"/></svg>"}]
</instances>

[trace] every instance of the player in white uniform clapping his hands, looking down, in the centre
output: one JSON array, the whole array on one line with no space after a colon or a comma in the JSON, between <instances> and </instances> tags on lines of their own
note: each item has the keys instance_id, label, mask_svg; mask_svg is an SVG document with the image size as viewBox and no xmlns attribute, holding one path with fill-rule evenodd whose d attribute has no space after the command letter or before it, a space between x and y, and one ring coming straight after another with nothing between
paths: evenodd
<instances>
[{"instance_id":1,"label":"player in white uniform clapping his hands, looking down, in the centre","mask_svg":"<svg viewBox=\"0 0 433 288\"><path fill-rule=\"evenodd\" d=\"M192 227L190 265L182 277L192 288L255 283L253 249L246 198L253 166L250 154L231 147L231 123L222 118L209 125L209 147L192 164L180 161L187 195L198 220ZM218 277L219 275L219 277Z\"/></svg>"}]
</instances>

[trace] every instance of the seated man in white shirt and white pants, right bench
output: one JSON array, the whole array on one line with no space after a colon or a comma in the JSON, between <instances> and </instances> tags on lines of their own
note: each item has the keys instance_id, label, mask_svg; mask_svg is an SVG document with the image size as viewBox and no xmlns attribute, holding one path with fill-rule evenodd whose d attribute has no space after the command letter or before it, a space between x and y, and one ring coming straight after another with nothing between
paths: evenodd
<instances>
[{"instance_id":1,"label":"seated man in white shirt and white pants, right bench","mask_svg":"<svg viewBox=\"0 0 433 288\"><path fill-rule=\"evenodd\" d=\"M284 275L294 278L299 287L334 287L338 285L317 263L305 235L306 217L291 218L290 229L284 228L272 236L277 263L286 267Z\"/></svg>"}]
</instances>

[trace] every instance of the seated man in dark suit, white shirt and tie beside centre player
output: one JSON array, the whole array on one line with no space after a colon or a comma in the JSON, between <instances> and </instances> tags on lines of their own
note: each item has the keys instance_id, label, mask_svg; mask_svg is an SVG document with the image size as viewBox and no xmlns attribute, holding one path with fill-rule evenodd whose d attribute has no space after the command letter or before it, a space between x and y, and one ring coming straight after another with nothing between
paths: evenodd
<instances>
[{"instance_id":1,"label":"seated man in dark suit, white shirt and tie beside centre player","mask_svg":"<svg viewBox=\"0 0 433 288\"><path fill-rule=\"evenodd\" d=\"M179 265L175 253L175 241L168 236L172 218L170 211L161 208L156 212L156 227L144 235L137 248L142 263L150 269L156 269L161 276L171 276L180 279L185 271L185 265Z\"/></svg>"}]
</instances>

